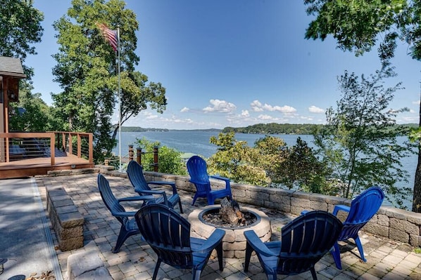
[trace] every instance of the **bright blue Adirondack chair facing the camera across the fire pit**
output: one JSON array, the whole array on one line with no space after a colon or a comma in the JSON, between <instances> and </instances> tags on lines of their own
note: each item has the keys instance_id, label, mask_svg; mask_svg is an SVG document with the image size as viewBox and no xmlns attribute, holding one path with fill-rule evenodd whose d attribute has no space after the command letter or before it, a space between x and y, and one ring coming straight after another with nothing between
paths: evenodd
<instances>
[{"instance_id":1,"label":"bright blue Adirondack chair facing the camera across the fire pit","mask_svg":"<svg viewBox=\"0 0 421 280\"><path fill-rule=\"evenodd\" d=\"M189 171L190 182L196 186L196 194L194 194L191 205L194 205L198 197L206 197L208 205L215 204L215 199L222 199L227 196L232 200L230 179L208 175L206 161L200 156L191 156L187 161L187 170ZM225 181L225 189L212 189L209 178Z\"/></svg>"}]
</instances>

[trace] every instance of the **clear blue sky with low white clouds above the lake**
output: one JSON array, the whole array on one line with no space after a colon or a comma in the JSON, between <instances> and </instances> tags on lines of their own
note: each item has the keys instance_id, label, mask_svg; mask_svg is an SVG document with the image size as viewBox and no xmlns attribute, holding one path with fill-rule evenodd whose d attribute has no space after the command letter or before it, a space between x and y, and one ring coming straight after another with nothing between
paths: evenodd
<instances>
[{"instance_id":1,"label":"clear blue sky with low white clouds above the lake","mask_svg":"<svg viewBox=\"0 0 421 280\"><path fill-rule=\"evenodd\" d=\"M61 88L51 69L58 46L52 23L70 0L34 0L44 13L44 35L34 67L34 93L51 105ZM144 128L224 128L252 124L323 124L325 109L341 96L337 76L372 74L377 49L356 58L337 49L334 39L304 39L311 17L297 0L127 0L137 14L140 62L136 69L166 88L163 114L142 111L123 126ZM421 62L401 43L393 63L403 82L391 109L410 108L398 123L418 123ZM116 118L115 118L116 119Z\"/></svg>"}]
</instances>

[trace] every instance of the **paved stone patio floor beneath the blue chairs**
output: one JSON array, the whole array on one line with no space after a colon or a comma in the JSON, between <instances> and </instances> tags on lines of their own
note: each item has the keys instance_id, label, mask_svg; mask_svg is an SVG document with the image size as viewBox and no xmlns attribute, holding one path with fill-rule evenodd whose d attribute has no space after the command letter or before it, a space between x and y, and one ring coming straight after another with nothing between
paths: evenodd
<instances>
[{"instance_id":1,"label":"paved stone patio floor beneath the blue chairs","mask_svg":"<svg viewBox=\"0 0 421 280\"><path fill-rule=\"evenodd\" d=\"M96 173L79 175L65 175L57 177L37 177L36 182L45 206L45 186L61 185L72 197L78 211L84 218L84 247L62 252L56 250L58 262L63 277L67 276L67 259L70 255L82 251L97 250L105 262L105 266L113 279L151 279L155 266L156 256L146 243L142 243L139 236L132 236L122 246L119 253L112 253L120 229L118 221L111 216L103 205L96 185ZM113 192L117 197L135 196L130 181L127 178L106 175L110 181ZM196 206L191 206L191 192L179 190L184 218L194 209L206 206L206 201L198 199ZM240 204L250 208L249 205ZM136 208L136 205L132 205ZM177 207L175 208L176 210ZM294 216L284 215L279 211L268 208L258 208L269 216L272 226L272 240L279 239L280 229ZM49 222L50 223L50 222ZM50 223L51 229L51 223ZM54 231L51 230L54 245L58 242ZM361 234L367 262L358 258L356 246L343 243L341 260L343 269L335 267L330 254L325 255L318 265L318 279L421 279L421 254L413 252L413 247L398 241L385 239L372 234ZM201 279L265 279L265 274L260 268L257 258L251 259L248 273L244 273L244 259L224 258L224 270L218 270L218 262L210 260L208 266L201 274ZM191 279L188 270L174 269L168 265L161 265L158 279ZM279 279L311 279L310 272L299 276L279 276Z\"/></svg>"}]
</instances>

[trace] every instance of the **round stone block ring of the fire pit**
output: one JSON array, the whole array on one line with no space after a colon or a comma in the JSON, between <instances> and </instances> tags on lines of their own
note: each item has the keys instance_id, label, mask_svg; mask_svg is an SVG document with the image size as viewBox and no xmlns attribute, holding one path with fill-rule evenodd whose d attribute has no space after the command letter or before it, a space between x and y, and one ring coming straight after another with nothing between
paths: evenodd
<instances>
[{"instance_id":1,"label":"round stone block ring of the fire pit","mask_svg":"<svg viewBox=\"0 0 421 280\"><path fill-rule=\"evenodd\" d=\"M241 207L241 211L249 212L256 215L256 222L247 226L240 227L220 227L218 225L212 225L201 218L203 214L208 211L218 211L219 205L210 205L204 208L195 209L189 215L189 222L191 224L191 236L197 238L208 238L215 228L219 228L225 231L225 236L222 239L222 249L224 258L244 258L246 253L246 237L244 232L249 229L253 229L260 239L265 242L270 240L272 235L272 229L270 227L270 219L268 215L257 209ZM215 251L213 254L216 255Z\"/></svg>"}]
</instances>

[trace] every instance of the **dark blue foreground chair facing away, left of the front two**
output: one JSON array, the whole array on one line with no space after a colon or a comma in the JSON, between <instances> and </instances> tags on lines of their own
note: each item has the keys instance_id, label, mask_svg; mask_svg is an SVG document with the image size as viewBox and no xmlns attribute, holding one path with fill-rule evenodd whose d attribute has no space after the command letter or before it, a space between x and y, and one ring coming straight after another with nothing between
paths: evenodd
<instances>
[{"instance_id":1,"label":"dark blue foreground chair facing away, left of the front two","mask_svg":"<svg viewBox=\"0 0 421 280\"><path fill-rule=\"evenodd\" d=\"M161 262L178 269L192 269L193 279L199 279L213 249L222 271L222 238L225 231L215 229L208 239L190 236L190 223L165 204L146 204L134 215L145 241L158 255L152 279L155 280Z\"/></svg>"}]
</instances>

